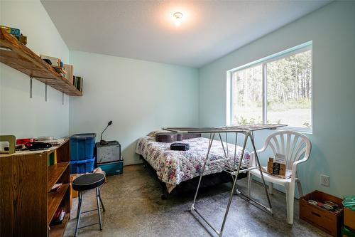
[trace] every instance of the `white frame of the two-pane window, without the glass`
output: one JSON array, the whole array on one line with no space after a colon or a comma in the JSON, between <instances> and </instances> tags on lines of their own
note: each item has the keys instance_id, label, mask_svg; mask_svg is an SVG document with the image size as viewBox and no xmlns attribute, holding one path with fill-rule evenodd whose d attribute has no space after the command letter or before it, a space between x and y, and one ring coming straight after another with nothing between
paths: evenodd
<instances>
[{"instance_id":1,"label":"white frame of the two-pane window, without the glass","mask_svg":"<svg viewBox=\"0 0 355 237\"><path fill-rule=\"evenodd\" d=\"M258 60L255 60L251 63L247 63L245 65L241 65L240 67L237 67L237 68L233 68L231 70L227 70L226 72L226 77L227 77L227 102L226 102L226 105L227 105L227 112L226 112L226 124L227 125L235 125L232 123L233 121L233 115L234 115L234 109L233 109L233 103L232 101L234 100L234 96L233 93L232 93L232 88L233 88L233 83L234 83L234 80L233 80L233 75L234 73L240 71L240 70L245 70L247 68L253 68L253 67L256 67L258 65L261 65L262 66L262 88L263 88L263 92L262 92L262 104L263 104L263 108L262 108L262 117L263 117L263 123L266 123L267 121L267 115L268 115L268 107L267 107L267 98L268 98L268 95L267 95L267 91L268 91L268 88L267 88L267 81L268 81L268 78L267 78L267 64L268 63L271 63L275 60L280 60L282 58L287 58L289 56L293 56L297 53L302 53L302 52L305 52L305 51L311 51L311 61L312 61L312 97L311 97L311 122L312 122L312 127L310 128L307 128L307 127L283 127L282 129L283 130L293 130L293 131L297 131L297 132L305 132L305 133L312 133L312 130L313 130L313 48L312 48L312 41L308 41L306 43L302 43L300 44L299 46L295 46L293 48L289 48L285 51L281 51L281 52L278 52L278 53L274 53L273 55L271 56L267 56L265 58L261 58L261 59L258 59Z\"/></svg>"}]
</instances>

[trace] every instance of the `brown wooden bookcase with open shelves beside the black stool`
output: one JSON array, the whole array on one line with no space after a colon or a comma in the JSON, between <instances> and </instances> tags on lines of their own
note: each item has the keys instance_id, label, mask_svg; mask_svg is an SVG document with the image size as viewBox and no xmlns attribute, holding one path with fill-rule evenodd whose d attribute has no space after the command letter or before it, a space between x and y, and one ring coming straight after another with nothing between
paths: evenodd
<instances>
[{"instance_id":1,"label":"brown wooden bookcase with open shelves beside the black stool","mask_svg":"<svg viewBox=\"0 0 355 237\"><path fill-rule=\"evenodd\" d=\"M69 162L69 140L45 151L0 154L0 236L63 236L70 218ZM62 186L50 192L56 183ZM64 221L50 226L59 207Z\"/></svg>"}]
</instances>

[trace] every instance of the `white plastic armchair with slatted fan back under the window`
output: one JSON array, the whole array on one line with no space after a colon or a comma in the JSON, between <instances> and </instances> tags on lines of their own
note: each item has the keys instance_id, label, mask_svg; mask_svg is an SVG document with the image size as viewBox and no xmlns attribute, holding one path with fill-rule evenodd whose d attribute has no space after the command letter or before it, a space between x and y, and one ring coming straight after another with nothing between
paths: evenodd
<instances>
[{"instance_id":1,"label":"white plastic armchair with slatted fan back under the window","mask_svg":"<svg viewBox=\"0 0 355 237\"><path fill-rule=\"evenodd\" d=\"M266 142L263 148L256 151L259 154L265 152L266 149L270 147L273 151L273 157L275 153L285 154L286 157L286 169L292 170L292 175L289 179L283 179L275 177L271 174L263 172L263 177L268 181L269 194L273 194L273 184L280 184L285 186L286 191L286 206L287 206L287 216L288 223L293 223L293 201L295 198L295 183L297 183L298 192L300 196L303 196L302 186L300 180L297 178L297 165L307 161L310 157L310 152L312 149L312 144L310 140L298 132L292 131L281 131L275 132L266 138ZM254 152L251 153L251 164L255 164ZM302 159L300 159L303 156ZM253 169L249 172L249 183L248 183L248 195L250 196L251 180L252 176L261 177L260 171L258 169Z\"/></svg>"}]
</instances>

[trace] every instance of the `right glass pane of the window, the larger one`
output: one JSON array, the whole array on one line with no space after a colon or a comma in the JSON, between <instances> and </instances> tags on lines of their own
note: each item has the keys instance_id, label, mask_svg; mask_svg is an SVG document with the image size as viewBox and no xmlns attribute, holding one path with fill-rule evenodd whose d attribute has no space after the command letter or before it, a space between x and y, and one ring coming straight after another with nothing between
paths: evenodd
<instances>
[{"instance_id":1,"label":"right glass pane of the window, the larger one","mask_svg":"<svg viewBox=\"0 0 355 237\"><path fill-rule=\"evenodd\" d=\"M312 127L312 51L266 66L267 122Z\"/></svg>"}]
</instances>

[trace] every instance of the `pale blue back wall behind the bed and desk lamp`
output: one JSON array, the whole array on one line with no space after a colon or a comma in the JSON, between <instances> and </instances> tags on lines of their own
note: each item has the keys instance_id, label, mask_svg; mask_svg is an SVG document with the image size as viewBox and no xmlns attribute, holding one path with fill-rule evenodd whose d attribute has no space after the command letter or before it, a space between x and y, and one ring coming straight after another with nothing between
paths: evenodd
<instances>
[{"instance_id":1,"label":"pale blue back wall behind the bed and desk lamp","mask_svg":"<svg viewBox=\"0 0 355 237\"><path fill-rule=\"evenodd\" d=\"M140 162L136 141L168 126L197 126L197 69L144 60L70 51L84 95L70 98L70 134L96 132L118 140L124 164Z\"/></svg>"}]
</instances>

